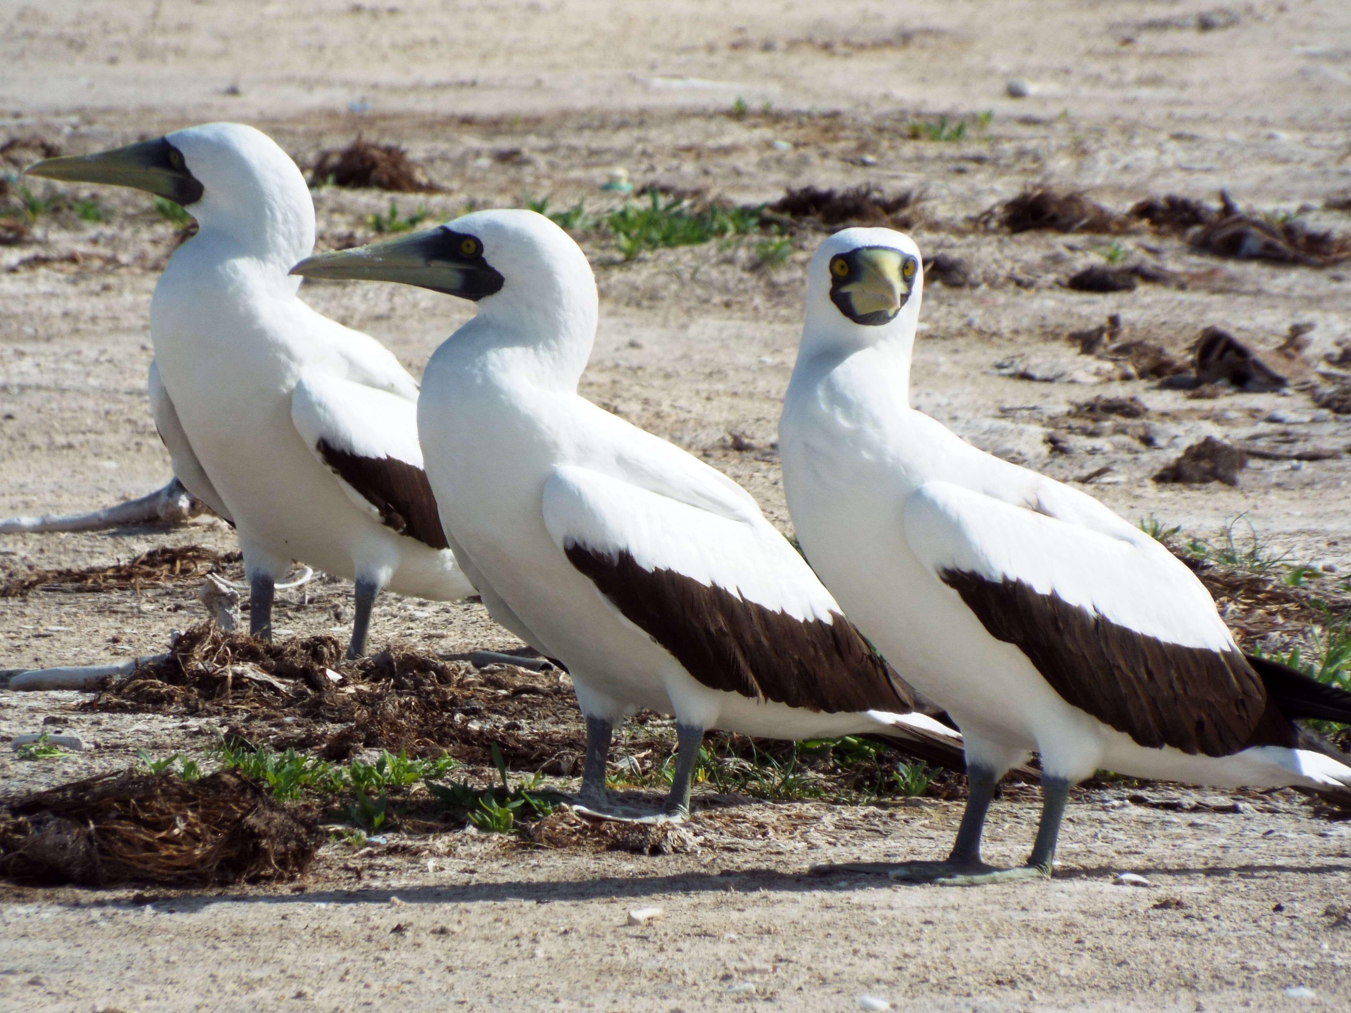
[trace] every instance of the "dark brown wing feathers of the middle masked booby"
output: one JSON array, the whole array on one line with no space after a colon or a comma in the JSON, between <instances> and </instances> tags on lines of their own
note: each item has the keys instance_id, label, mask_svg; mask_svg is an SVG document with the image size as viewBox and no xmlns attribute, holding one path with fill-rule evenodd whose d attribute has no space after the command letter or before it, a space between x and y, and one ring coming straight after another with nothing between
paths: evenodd
<instances>
[{"instance_id":1,"label":"dark brown wing feathers of the middle masked booby","mask_svg":"<svg viewBox=\"0 0 1351 1013\"><path fill-rule=\"evenodd\" d=\"M844 616L802 621L674 570L573 544L567 558L711 689L825 713L909 713L908 686Z\"/></svg>"}]
</instances>

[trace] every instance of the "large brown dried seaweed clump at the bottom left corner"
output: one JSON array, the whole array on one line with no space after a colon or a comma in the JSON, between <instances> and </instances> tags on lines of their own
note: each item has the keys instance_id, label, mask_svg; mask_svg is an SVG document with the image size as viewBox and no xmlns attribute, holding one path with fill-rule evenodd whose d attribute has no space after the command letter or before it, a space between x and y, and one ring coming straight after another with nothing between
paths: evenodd
<instances>
[{"instance_id":1,"label":"large brown dried seaweed clump at the bottom left corner","mask_svg":"<svg viewBox=\"0 0 1351 1013\"><path fill-rule=\"evenodd\" d=\"M313 819L227 771L101 774L0 809L0 874L49 883L293 879L317 847Z\"/></svg>"}]
</instances>

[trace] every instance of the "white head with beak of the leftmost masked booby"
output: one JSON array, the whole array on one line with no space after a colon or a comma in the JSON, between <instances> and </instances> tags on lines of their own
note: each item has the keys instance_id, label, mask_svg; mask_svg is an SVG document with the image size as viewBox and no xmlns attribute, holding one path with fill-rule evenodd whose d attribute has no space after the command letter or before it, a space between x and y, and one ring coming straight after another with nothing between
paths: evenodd
<instances>
[{"instance_id":1,"label":"white head with beak of the leftmost masked booby","mask_svg":"<svg viewBox=\"0 0 1351 1013\"><path fill-rule=\"evenodd\" d=\"M105 182L166 197L200 234L281 271L315 246L315 205L300 169L266 134L242 123L176 130L95 155L49 158L32 176Z\"/></svg>"}]
</instances>

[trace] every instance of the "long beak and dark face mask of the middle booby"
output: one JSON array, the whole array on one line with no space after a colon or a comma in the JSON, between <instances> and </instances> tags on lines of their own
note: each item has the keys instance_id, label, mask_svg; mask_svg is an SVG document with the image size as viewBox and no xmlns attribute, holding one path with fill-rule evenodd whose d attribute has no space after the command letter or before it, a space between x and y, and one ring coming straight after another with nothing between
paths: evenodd
<instances>
[{"instance_id":1,"label":"long beak and dark face mask of the middle booby","mask_svg":"<svg viewBox=\"0 0 1351 1013\"><path fill-rule=\"evenodd\" d=\"M503 276L484 259L477 243L471 243L477 253L466 254L466 239L471 236L438 226L353 250L316 254L297 263L290 273L305 278L394 281L480 300L503 286Z\"/></svg>"}]
</instances>

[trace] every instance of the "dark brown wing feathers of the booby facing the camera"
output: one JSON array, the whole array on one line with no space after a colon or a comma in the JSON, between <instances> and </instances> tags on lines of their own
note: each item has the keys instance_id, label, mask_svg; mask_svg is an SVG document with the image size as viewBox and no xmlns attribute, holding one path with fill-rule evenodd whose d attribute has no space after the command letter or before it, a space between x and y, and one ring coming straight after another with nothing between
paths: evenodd
<instances>
[{"instance_id":1,"label":"dark brown wing feathers of the booby facing the camera","mask_svg":"<svg viewBox=\"0 0 1351 1013\"><path fill-rule=\"evenodd\" d=\"M1181 647L1023 581L943 570L990 636L1019 647L1051 689L1140 746L1228 756L1293 746L1297 731L1238 651Z\"/></svg>"}]
</instances>

